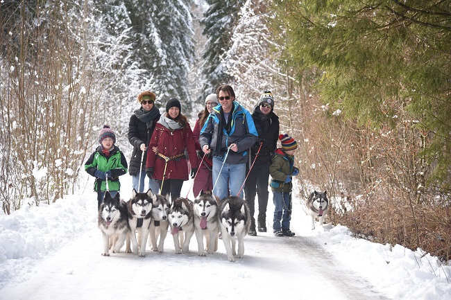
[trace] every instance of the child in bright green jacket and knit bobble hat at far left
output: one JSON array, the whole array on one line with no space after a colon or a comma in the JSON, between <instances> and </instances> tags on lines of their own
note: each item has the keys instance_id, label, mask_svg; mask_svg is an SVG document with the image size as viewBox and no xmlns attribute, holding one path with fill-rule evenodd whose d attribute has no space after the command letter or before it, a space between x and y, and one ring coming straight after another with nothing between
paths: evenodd
<instances>
[{"instance_id":1,"label":"child in bright green jacket and knit bobble hat at far left","mask_svg":"<svg viewBox=\"0 0 451 300\"><path fill-rule=\"evenodd\" d=\"M105 191L110 191L114 197L121 189L119 176L127 173L127 160L116 143L116 134L110 126L103 125L99 132L99 147L85 162L85 171L96 177L94 191L97 192L97 208L103 201ZM107 186L108 184L108 186Z\"/></svg>"}]
</instances>

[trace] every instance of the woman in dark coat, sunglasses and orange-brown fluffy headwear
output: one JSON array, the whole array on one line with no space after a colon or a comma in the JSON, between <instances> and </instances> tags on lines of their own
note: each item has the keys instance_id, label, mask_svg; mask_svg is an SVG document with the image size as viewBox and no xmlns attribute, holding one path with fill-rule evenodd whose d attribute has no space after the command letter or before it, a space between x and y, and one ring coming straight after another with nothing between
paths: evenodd
<instances>
[{"instance_id":1,"label":"woman in dark coat, sunglasses and orange-brown fluffy headwear","mask_svg":"<svg viewBox=\"0 0 451 300\"><path fill-rule=\"evenodd\" d=\"M155 99L156 96L151 91L143 91L139 94L138 101L141 107L133 112L130 117L130 123L128 123L128 141L133 145L128 173L132 176L133 188L138 193L144 191L147 145L151 141L155 123L157 123L161 116L160 110L155 106ZM142 156L143 152L144 157ZM141 173L141 177L139 177L139 173ZM152 193L158 193L159 186L157 180L149 179L148 188L151 188Z\"/></svg>"}]
</instances>

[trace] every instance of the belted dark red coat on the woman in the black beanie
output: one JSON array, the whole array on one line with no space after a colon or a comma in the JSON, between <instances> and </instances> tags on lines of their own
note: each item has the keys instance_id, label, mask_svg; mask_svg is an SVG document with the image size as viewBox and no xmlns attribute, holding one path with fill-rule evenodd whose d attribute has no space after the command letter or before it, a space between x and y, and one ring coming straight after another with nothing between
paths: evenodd
<instances>
[{"instance_id":1,"label":"belted dark red coat on the woman in the black beanie","mask_svg":"<svg viewBox=\"0 0 451 300\"><path fill-rule=\"evenodd\" d=\"M192 168L197 168L198 166L193 132L188 123L185 125L185 128L174 131L169 130L160 123L155 125L151 142L148 145L149 151L147 152L146 167L153 168L154 179L162 180L166 161L156 155L155 152L151 151L155 146L158 148L158 151L166 157L173 157L175 155L180 155L180 153L185 153L186 148ZM189 170L185 156L168 161L164 179L188 180L188 176Z\"/></svg>"}]
</instances>

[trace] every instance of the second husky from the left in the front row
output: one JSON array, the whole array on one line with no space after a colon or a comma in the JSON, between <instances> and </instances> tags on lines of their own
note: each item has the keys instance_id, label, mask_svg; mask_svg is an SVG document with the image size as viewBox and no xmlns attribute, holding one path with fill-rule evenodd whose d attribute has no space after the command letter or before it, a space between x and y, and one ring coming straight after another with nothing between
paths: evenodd
<instances>
[{"instance_id":1,"label":"second husky from the left in the front row","mask_svg":"<svg viewBox=\"0 0 451 300\"><path fill-rule=\"evenodd\" d=\"M131 252L131 240L133 253L138 254L138 256L146 256L148 226L151 224L152 216L152 196L151 189L147 193L137 193L135 188L133 188L132 197L127 202L128 224L130 225L130 233L127 235L127 253ZM136 231L139 232L139 245L136 240Z\"/></svg>"}]
</instances>

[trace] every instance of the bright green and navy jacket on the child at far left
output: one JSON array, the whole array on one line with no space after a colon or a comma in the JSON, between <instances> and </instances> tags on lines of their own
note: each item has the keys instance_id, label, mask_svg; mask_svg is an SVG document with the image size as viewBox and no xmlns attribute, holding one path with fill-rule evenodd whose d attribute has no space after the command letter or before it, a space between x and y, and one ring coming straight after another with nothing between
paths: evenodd
<instances>
[{"instance_id":1,"label":"bright green and navy jacket on the child at far left","mask_svg":"<svg viewBox=\"0 0 451 300\"><path fill-rule=\"evenodd\" d=\"M114 145L108 157L102 152L102 146L99 145L96 151L85 162L85 171L91 176L95 177L96 170L102 172L111 171L111 178L108 178L109 191L120 191L121 184L119 182L119 176L126 174L127 168L126 157L116 145ZM107 191L105 179L96 179L94 182L94 191L99 191L99 186L101 191Z\"/></svg>"}]
</instances>

